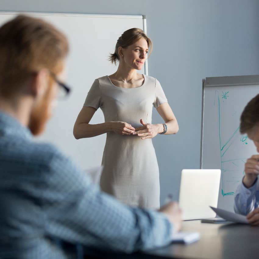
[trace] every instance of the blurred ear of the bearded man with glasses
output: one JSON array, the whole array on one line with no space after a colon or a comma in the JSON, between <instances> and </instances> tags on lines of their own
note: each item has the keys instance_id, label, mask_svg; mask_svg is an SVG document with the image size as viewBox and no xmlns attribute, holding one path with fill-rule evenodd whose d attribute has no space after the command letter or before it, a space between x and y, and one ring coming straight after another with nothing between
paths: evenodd
<instances>
[{"instance_id":1,"label":"blurred ear of the bearded man with glasses","mask_svg":"<svg viewBox=\"0 0 259 259\"><path fill-rule=\"evenodd\" d=\"M41 69L33 76L31 81L31 93L35 98L42 96L45 92L48 85L48 74L47 69Z\"/></svg>"}]
</instances>

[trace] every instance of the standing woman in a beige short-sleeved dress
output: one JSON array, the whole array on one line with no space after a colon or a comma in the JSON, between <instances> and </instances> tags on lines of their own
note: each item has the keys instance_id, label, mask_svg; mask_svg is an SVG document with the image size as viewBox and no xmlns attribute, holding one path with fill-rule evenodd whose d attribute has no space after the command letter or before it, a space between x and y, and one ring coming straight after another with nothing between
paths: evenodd
<instances>
[{"instance_id":1,"label":"standing woman in a beige short-sleeved dress","mask_svg":"<svg viewBox=\"0 0 259 259\"><path fill-rule=\"evenodd\" d=\"M149 49L151 39L141 29L126 30L119 37L110 55L111 62L119 62L118 69L94 80L73 134L80 139L107 133L101 190L126 204L159 208L159 170L152 138L177 133L178 123L158 80L137 73ZM152 124L153 106L163 123ZM99 107L105 122L89 124Z\"/></svg>"}]
</instances>

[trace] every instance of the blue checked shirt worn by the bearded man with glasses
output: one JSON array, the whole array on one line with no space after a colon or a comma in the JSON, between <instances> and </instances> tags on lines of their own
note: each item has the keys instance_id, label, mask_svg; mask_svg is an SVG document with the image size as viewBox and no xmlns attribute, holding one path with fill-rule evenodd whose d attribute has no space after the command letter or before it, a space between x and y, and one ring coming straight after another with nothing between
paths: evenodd
<instances>
[{"instance_id":1,"label":"blue checked shirt worn by the bearded man with glasses","mask_svg":"<svg viewBox=\"0 0 259 259\"><path fill-rule=\"evenodd\" d=\"M3 112L0 197L1 259L76 258L78 244L130 253L171 240L173 227L165 215L102 193L68 157L35 142Z\"/></svg>"}]
</instances>

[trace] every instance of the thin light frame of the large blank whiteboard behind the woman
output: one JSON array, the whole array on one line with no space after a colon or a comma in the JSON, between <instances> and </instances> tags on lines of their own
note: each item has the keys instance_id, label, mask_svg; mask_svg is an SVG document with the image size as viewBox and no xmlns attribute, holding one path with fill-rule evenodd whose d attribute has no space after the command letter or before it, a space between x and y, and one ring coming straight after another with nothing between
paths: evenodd
<instances>
[{"instance_id":1,"label":"thin light frame of the large blank whiteboard behind the woman","mask_svg":"<svg viewBox=\"0 0 259 259\"><path fill-rule=\"evenodd\" d=\"M117 15L117 14L84 14L84 13L62 13L62 12L3 12L0 15L33 15L33 16L78 16L78 17L100 17L100 18L121 18L121 19L142 19L143 31L147 34L147 16L146 15ZM144 73L148 76L147 60L144 63Z\"/></svg>"}]
</instances>

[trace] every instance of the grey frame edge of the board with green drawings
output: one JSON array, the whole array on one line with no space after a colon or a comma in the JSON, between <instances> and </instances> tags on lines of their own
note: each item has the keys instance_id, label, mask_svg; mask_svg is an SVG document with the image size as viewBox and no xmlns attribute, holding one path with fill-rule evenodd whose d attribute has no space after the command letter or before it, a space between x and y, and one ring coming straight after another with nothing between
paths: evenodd
<instances>
[{"instance_id":1,"label":"grey frame edge of the board with green drawings","mask_svg":"<svg viewBox=\"0 0 259 259\"><path fill-rule=\"evenodd\" d=\"M259 84L259 75L250 76L217 76L202 79L201 133L200 133L200 169L202 169L203 114L204 92L206 87L229 87Z\"/></svg>"}]
</instances>

